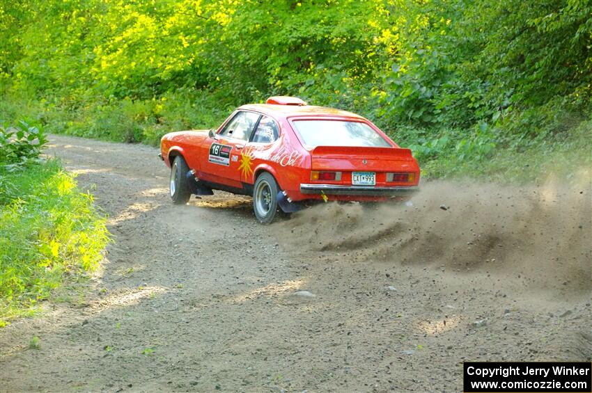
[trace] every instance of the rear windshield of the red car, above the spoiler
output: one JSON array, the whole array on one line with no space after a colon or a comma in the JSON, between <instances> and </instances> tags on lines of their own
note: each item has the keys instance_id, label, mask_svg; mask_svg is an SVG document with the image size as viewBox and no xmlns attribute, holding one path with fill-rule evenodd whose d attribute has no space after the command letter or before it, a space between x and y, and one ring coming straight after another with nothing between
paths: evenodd
<instances>
[{"instance_id":1,"label":"rear windshield of the red car, above the spoiler","mask_svg":"<svg viewBox=\"0 0 592 393\"><path fill-rule=\"evenodd\" d=\"M370 146L391 145L362 122L347 120L295 120L294 126L305 145L317 146Z\"/></svg>"}]
</instances>

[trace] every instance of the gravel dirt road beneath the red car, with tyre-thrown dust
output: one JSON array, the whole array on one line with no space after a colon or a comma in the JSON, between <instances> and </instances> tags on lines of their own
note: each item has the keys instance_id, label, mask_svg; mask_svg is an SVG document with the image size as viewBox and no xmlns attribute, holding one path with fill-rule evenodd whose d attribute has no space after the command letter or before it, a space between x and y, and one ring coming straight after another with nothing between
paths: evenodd
<instances>
[{"instance_id":1,"label":"gravel dirt road beneath the red car, with tyre-thrown dust","mask_svg":"<svg viewBox=\"0 0 592 393\"><path fill-rule=\"evenodd\" d=\"M464 360L591 360L589 173L262 226L249 198L173 206L152 147L49 154L114 243L86 295L0 330L2 392L458 392Z\"/></svg>"}]
</instances>

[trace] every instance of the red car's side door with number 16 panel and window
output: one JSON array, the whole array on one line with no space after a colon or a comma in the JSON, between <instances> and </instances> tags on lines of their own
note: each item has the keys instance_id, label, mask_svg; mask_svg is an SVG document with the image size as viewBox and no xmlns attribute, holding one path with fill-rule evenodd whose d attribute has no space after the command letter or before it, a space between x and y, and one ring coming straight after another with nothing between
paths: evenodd
<instances>
[{"instance_id":1,"label":"red car's side door with number 16 panel and window","mask_svg":"<svg viewBox=\"0 0 592 393\"><path fill-rule=\"evenodd\" d=\"M240 154L251 138L260 114L251 111L237 111L233 118L213 137L208 138L207 160L203 172L210 182L242 188Z\"/></svg>"}]
</instances>

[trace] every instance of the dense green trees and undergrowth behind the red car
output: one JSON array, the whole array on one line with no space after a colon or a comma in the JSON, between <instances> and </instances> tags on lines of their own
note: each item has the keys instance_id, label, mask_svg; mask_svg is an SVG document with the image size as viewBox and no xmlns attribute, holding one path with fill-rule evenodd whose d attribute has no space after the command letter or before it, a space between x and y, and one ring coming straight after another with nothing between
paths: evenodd
<instances>
[{"instance_id":1,"label":"dense green trees and undergrowth behind the red car","mask_svg":"<svg viewBox=\"0 0 592 393\"><path fill-rule=\"evenodd\" d=\"M361 113L428 177L591 164L592 3L13 1L0 118L156 144L270 95Z\"/></svg>"}]
</instances>

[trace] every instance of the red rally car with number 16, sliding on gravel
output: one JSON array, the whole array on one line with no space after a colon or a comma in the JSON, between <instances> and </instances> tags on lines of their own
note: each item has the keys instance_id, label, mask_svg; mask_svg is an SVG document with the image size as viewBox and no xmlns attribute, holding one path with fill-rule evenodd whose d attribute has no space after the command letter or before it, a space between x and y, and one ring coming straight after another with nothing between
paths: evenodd
<instances>
[{"instance_id":1,"label":"red rally car with number 16, sliding on gravel","mask_svg":"<svg viewBox=\"0 0 592 393\"><path fill-rule=\"evenodd\" d=\"M306 200L387 200L417 189L409 149L355 113L270 97L240 106L217 130L171 132L159 156L176 204L212 189L252 195L256 218Z\"/></svg>"}]
</instances>

